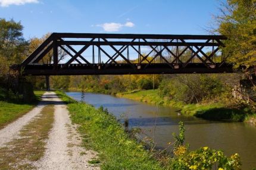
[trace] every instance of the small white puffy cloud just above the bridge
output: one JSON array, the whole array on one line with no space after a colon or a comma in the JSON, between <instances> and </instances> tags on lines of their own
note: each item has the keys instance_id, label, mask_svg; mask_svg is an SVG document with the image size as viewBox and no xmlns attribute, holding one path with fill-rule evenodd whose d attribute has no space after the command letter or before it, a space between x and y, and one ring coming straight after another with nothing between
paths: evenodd
<instances>
[{"instance_id":1,"label":"small white puffy cloud just above the bridge","mask_svg":"<svg viewBox=\"0 0 256 170\"><path fill-rule=\"evenodd\" d=\"M104 23L104 24L99 24L96 25L98 27L102 27L104 29L104 31L107 32L115 32L115 31L119 31L122 27L134 27L135 24L133 24L132 22L126 22L125 24L120 24L120 23Z\"/></svg>"}]
</instances>

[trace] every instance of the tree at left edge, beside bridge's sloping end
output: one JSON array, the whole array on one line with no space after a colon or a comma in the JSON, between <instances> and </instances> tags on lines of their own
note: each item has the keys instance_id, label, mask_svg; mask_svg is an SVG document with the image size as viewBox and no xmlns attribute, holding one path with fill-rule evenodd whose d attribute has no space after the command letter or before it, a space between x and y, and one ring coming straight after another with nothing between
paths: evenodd
<instances>
[{"instance_id":1,"label":"tree at left edge, beside bridge's sloping end","mask_svg":"<svg viewBox=\"0 0 256 170\"><path fill-rule=\"evenodd\" d=\"M0 82L5 89L17 85L13 79L17 74L10 72L10 65L21 62L26 56L28 43L22 30L20 22L0 18Z\"/></svg>"}]
</instances>

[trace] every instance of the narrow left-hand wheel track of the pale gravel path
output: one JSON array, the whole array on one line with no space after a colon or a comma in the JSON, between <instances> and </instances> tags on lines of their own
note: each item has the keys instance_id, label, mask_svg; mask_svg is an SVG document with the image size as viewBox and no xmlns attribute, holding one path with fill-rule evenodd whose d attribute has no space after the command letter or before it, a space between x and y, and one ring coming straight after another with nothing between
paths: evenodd
<instances>
[{"instance_id":1,"label":"narrow left-hand wheel track of the pale gravel path","mask_svg":"<svg viewBox=\"0 0 256 170\"><path fill-rule=\"evenodd\" d=\"M42 96L42 101L39 102L38 106L29 111L29 113L24 114L24 116L18 118L13 123L8 124L3 129L0 130L0 147L4 146L4 143L10 142L12 139L18 137L19 131L24 125L26 125L33 117L38 115L46 104L51 102L51 98L48 98L54 94L53 92L45 92Z\"/></svg>"}]
</instances>

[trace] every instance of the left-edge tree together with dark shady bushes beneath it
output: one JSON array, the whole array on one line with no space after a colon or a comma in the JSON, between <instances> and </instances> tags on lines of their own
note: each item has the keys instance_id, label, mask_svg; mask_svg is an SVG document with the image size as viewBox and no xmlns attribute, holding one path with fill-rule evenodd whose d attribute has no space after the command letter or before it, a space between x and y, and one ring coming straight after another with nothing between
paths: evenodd
<instances>
[{"instance_id":1,"label":"left-edge tree together with dark shady bushes beneath it","mask_svg":"<svg viewBox=\"0 0 256 170\"><path fill-rule=\"evenodd\" d=\"M9 70L11 64L20 63L26 56L28 43L23 38L22 30L20 22L0 18L0 86L4 89L4 95L0 97L2 100L33 100L33 86L24 79L18 79L17 72Z\"/></svg>"}]
</instances>

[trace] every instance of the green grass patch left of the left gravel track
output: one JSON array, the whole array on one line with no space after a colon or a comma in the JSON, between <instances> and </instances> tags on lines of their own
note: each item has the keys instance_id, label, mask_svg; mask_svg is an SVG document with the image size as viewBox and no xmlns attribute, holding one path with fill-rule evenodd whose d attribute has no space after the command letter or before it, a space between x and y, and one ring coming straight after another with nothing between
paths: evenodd
<instances>
[{"instance_id":1,"label":"green grass patch left of the left gravel track","mask_svg":"<svg viewBox=\"0 0 256 170\"><path fill-rule=\"evenodd\" d=\"M23 116L38 104L43 91L35 91L35 100L31 103L23 101L0 101L0 129L8 123Z\"/></svg>"}]
</instances>

